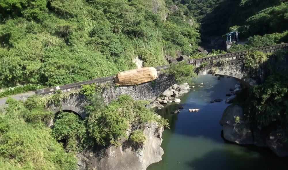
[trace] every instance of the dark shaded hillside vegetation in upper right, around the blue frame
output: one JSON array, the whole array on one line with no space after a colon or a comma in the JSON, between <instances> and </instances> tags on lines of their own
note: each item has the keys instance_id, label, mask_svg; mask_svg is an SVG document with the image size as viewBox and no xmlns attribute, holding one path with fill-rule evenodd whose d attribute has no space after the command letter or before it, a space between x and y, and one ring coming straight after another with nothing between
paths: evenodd
<instances>
[{"instance_id":1,"label":"dark shaded hillside vegetation in upper right, around the blue frame","mask_svg":"<svg viewBox=\"0 0 288 170\"><path fill-rule=\"evenodd\" d=\"M168 1L168 0L166 0ZM287 42L287 0L173 0L201 24L202 40L222 36L233 29L249 46L233 47L229 52ZM226 36L223 37L226 40Z\"/></svg>"}]
</instances>

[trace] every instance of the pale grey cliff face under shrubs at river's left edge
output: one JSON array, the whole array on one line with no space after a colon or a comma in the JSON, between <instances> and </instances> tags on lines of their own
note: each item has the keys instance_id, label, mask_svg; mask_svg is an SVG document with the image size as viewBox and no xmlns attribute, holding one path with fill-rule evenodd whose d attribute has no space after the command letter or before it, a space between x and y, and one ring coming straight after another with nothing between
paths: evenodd
<instances>
[{"instance_id":1,"label":"pale grey cliff face under shrubs at river's left edge","mask_svg":"<svg viewBox=\"0 0 288 170\"><path fill-rule=\"evenodd\" d=\"M78 170L102 169L102 170L145 170L150 164L162 160L164 154L160 147L162 132L158 125L152 123L145 126L144 133L147 143L143 148L134 148L126 139L122 140L122 146L110 146L101 150L85 150L77 155ZM129 133L129 132L128 132Z\"/></svg>"}]
</instances>

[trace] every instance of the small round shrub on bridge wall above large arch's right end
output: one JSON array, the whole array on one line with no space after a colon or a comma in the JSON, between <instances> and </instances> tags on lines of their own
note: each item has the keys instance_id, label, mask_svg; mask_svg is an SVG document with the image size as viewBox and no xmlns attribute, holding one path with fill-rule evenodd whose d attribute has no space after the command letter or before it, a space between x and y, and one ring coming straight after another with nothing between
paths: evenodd
<instances>
[{"instance_id":1,"label":"small round shrub on bridge wall above large arch's right end","mask_svg":"<svg viewBox=\"0 0 288 170\"><path fill-rule=\"evenodd\" d=\"M267 61L267 56L260 51L249 52L244 57L244 65L248 69L258 69L265 61Z\"/></svg>"}]
</instances>

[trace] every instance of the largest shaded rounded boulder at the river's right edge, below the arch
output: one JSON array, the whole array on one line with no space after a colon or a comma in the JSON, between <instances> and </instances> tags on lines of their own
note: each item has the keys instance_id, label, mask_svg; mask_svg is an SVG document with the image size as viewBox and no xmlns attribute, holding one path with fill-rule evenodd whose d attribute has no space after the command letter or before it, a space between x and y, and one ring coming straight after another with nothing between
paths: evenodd
<instances>
[{"instance_id":1,"label":"largest shaded rounded boulder at the river's right edge, below the arch","mask_svg":"<svg viewBox=\"0 0 288 170\"><path fill-rule=\"evenodd\" d=\"M241 145L254 143L251 127L245 120L240 106L228 106L219 123L223 126L223 135L226 140Z\"/></svg>"}]
</instances>

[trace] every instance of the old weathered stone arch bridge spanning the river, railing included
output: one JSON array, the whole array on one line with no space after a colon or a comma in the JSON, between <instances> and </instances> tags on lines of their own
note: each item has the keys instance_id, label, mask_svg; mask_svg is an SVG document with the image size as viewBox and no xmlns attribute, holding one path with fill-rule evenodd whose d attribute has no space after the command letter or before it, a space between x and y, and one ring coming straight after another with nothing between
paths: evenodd
<instances>
[{"instance_id":1,"label":"old weathered stone arch bridge spanning the river, railing included","mask_svg":"<svg viewBox=\"0 0 288 170\"><path fill-rule=\"evenodd\" d=\"M211 74L213 67L218 67L217 71L214 73L215 75L227 75L234 78L237 78L242 84L246 84L247 86L251 86L256 84L257 82L261 82L264 77L261 73L254 74L254 78L247 77L247 71L245 71L243 66L244 56L248 52L253 51L262 51L264 53L271 53L277 49L288 48L288 43L285 44L277 44L273 46L256 48L253 50L247 51L239 51L228 54L221 54L217 56L208 56L204 58L197 59L189 59L187 64L194 65L196 68L199 68L200 65L204 62L207 62L208 65L199 69L198 75L206 75ZM216 63L220 60L227 60L226 67L219 67ZM62 92L70 92L72 90L81 89L84 84L92 84L101 85L104 88L102 92L102 97L105 99L106 103L111 102L112 100L117 99L119 95L126 94L132 96L135 100L148 100L154 101L157 97L159 97L162 92L168 89L170 86L176 83L175 79L169 75L166 75L161 71L161 69L168 68L168 65L156 67L158 73L158 79L154 82L146 82L143 84L139 84L137 86L115 86L113 77L105 77L98 78L94 80L88 80L84 82L77 82L73 84L67 84L63 86L57 86L54 88L46 88L37 90L37 94L46 96L52 95L56 92L56 90L61 90ZM251 75L251 74L250 74ZM85 103L87 102L86 97L81 94L72 95L71 98L62 101L62 108L55 106L54 104L50 104L48 108L52 111L59 112L60 110L70 111L73 113L79 114L83 119L85 119Z\"/></svg>"}]
</instances>

